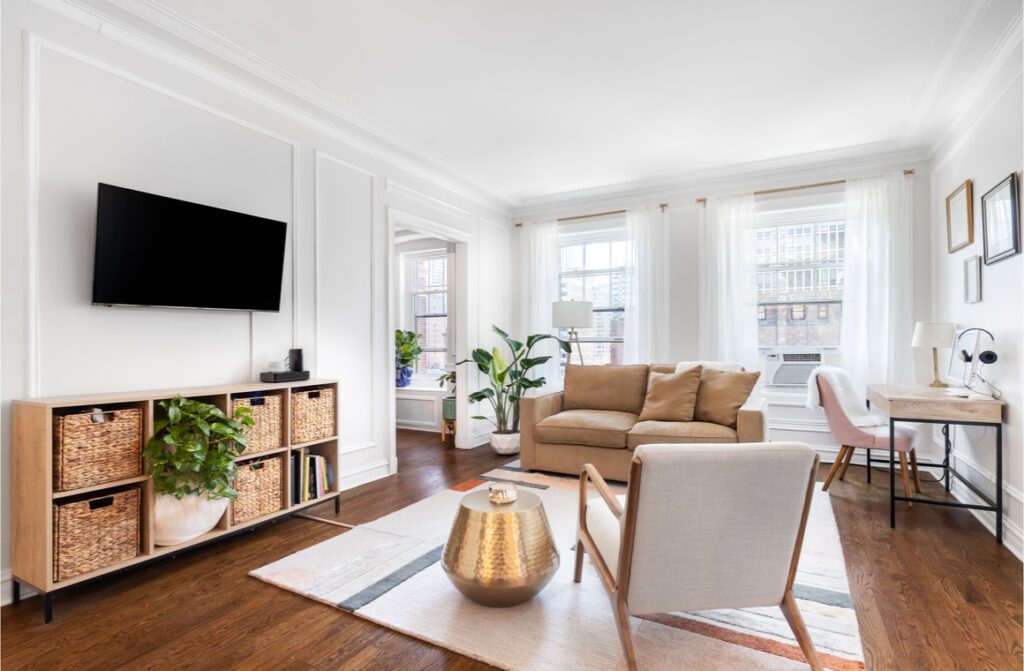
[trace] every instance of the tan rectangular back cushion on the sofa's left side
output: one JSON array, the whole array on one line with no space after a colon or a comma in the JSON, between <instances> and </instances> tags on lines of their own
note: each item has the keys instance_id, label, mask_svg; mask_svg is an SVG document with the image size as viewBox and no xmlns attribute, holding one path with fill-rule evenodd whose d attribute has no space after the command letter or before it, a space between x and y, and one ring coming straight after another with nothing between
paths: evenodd
<instances>
[{"instance_id":1,"label":"tan rectangular back cushion on the sofa's left side","mask_svg":"<svg viewBox=\"0 0 1024 671\"><path fill-rule=\"evenodd\" d=\"M639 415L646 366L566 366L562 410L617 410Z\"/></svg>"}]
</instances>

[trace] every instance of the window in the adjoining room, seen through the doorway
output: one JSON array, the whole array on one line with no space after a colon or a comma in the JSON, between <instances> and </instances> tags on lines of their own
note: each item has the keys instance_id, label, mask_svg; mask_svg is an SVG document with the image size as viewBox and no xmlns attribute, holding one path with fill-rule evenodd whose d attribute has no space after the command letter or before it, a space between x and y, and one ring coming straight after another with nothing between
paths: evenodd
<instances>
[{"instance_id":1,"label":"window in the adjoining room, seen through the doorway","mask_svg":"<svg viewBox=\"0 0 1024 671\"><path fill-rule=\"evenodd\" d=\"M449 291L447 254L414 256L410 260L413 331L423 353L416 373L440 375L447 354Z\"/></svg>"}]
</instances>

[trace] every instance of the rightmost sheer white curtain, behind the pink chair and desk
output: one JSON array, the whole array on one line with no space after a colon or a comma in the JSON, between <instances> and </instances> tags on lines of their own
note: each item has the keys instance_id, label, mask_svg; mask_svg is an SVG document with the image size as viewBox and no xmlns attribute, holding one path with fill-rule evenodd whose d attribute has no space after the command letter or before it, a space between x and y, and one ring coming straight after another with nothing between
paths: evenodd
<instances>
[{"instance_id":1,"label":"rightmost sheer white curtain, behind the pink chair and desk","mask_svg":"<svg viewBox=\"0 0 1024 671\"><path fill-rule=\"evenodd\" d=\"M912 224L912 177L847 180L840 350L861 391L911 378Z\"/></svg>"}]
</instances>

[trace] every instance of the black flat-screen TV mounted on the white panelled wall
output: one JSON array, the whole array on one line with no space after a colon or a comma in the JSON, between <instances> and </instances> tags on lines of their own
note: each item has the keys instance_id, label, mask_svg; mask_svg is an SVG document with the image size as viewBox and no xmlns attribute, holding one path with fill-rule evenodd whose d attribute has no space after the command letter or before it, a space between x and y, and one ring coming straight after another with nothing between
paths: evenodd
<instances>
[{"instance_id":1,"label":"black flat-screen TV mounted on the white panelled wall","mask_svg":"<svg viewBox=\"0 0 1024 671\"><path fill-rule=\"evenodd\" d=\"M92 302L281 309L284 221L99 184Z\"/></svg>"}]
</instances>

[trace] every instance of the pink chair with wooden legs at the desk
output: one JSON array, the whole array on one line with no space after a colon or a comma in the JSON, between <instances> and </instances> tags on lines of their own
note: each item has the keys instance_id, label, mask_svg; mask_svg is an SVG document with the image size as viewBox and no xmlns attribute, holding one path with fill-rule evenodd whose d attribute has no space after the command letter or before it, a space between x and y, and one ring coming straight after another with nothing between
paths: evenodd
<instances>
[{"instance_id":1,"label":"pink chair with wooden legs at the desk","mask_svg":"<svg viewBox=\"0 0 1024 671\"><path fill-rule=\"evenodd\" d=\"M879 424L877 426L855 426L850 418L846 416L843 406L840 405L836 391L824 376L817 376L818 394L821 397L821 407L825 411L825 418L828 420L828 428L833 437L840 444L839 455L833 463L828 475L825 476L825 484L821 488L823 492L828 491L828 486L833 479L839 475L840 479L846 478L846 470L853 460L853 451L857 448L867 450L867 481L871 481L871 450L889 451L889 425ZM913 477L913 489L921 493L921 480L918 477L918 455L913 450L913 437L915 431L902 426L896 427L896 452L899 454L900 472L903 475L903 494L910 496L910 478ZM907 455L910 455L910 467L907 468ZM907 506L912 505L909 501Z\"/></svg>"}]
</instances>

